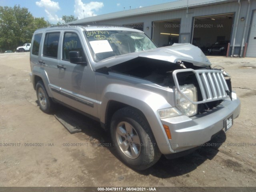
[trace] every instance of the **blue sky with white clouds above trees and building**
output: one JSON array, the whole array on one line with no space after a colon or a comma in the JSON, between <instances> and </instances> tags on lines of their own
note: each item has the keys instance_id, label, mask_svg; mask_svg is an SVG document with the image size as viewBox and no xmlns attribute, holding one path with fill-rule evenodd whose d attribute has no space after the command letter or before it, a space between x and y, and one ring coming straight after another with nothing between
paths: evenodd
<instances>
[{"instance_id":1,"label":"blue sky with white clouds above trees and building","mask_svg":"<svg viewBox=\"0 0 256 192\"><path fill-rule=\"evenodd\" d=\"M34 17L44 17L52 24L61 22L63 15L78 19L112 12L146 7L175 0L0 0L0 6L28 8Z\"/></svg>"}]
</instances>

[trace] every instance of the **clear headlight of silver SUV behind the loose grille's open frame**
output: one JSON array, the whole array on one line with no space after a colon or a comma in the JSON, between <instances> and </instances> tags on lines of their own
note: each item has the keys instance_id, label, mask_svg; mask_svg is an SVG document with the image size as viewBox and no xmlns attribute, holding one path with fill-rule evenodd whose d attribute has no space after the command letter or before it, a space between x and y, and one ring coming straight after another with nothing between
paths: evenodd
<instances>
[{"instance_id":1,"label":"clear headlight of silver SUV behind the loose grille's open frame","mask_svg":"<svg viewBox=\"0 0 256 192\"><path fill-rule=\"evenodd\" d=\"M180 90L191 101L197 101L197 91L193 84L180 86ZM175 90L177 107L186 116L190 117L197 114L197 104L192 104L183 94L180 94L177 90Z\"/></svg>"}]
</instances>

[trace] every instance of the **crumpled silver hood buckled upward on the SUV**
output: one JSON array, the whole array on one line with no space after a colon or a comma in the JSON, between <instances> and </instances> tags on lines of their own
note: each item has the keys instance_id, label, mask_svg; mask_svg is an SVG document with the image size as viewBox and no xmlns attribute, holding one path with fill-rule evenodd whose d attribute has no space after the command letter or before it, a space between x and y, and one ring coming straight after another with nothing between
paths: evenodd
<instances>
[{"instance_id":1,"label":"crumpled silver hood buckled upward on the SUV","mask_svg":"<svg viewBox=\"0 0 256 192\"><path fill-rule=\"evenodd\" d=\"M194 66L208 67L211 65L210 61L206 58L200 48L190 44L174 43L172 46L160 47L152 50L142 52L134 52L119 56L113 56L97 62L95 70L102 67L111 67L137 57L152 58L156 60L163 60L171 63L176 63L179 60L192 63Z\"/></svg>"}]
</instances>

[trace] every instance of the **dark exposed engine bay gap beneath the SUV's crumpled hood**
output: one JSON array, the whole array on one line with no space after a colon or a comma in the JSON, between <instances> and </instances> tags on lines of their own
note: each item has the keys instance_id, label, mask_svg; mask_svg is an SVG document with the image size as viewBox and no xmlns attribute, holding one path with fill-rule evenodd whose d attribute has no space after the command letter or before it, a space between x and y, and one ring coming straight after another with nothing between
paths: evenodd
<instances>
[{"instance_id":1,"label":"dark exposed engine bay gap beneath the SUV's crumpled hood","mask_svg":"<svg viewBox=\"0 0 256 192\"><path fill-rule=\"evenodd\" d=\"M149 80L161 86L173 88L175 86L172 77L172 72L177 69L192 68L203 69L202 67L194 66L189 62L179 61L177 63L170 63L162 60L155 60L151 58L138 57L122 64L112 66L109 70L129 76L134 76ZM210 68L208 68L210 69ZM193 73L180 73L180 85L194 84Z\"/></svg>"}]
</instances>

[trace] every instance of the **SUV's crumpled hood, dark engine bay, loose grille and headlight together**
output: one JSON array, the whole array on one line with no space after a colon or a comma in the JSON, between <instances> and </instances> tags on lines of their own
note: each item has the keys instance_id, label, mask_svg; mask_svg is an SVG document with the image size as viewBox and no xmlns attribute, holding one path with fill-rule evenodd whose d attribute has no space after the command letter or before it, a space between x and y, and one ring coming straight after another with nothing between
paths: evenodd
<instances>
[{"instance_id":1,"label":"SUV's crumpled hood, dark engine bay, loose grille and headlight together","mask_svg":"<svg viewBox=\"0 0 256 192\"><path fill-rule=\"evenodd\" d=\"M122 57L123 62L120 56L102 61L100 65L104 63L105 67L96 71L124 74L172 88L176 107L186 116L204 113L224 99L232 99L230 78L225 79L223 70L212 69L202 51L191 44L174 44Z\"/></svg>"}]
</instances>

